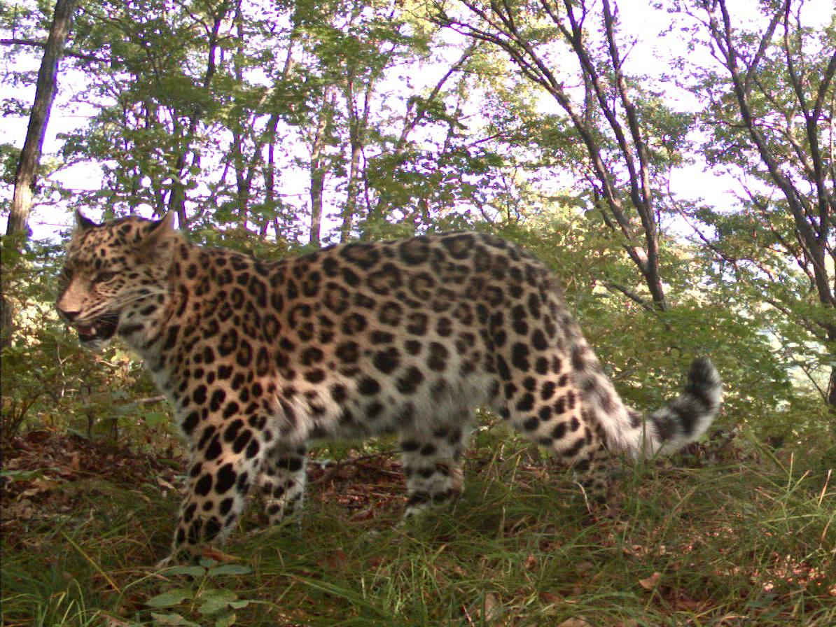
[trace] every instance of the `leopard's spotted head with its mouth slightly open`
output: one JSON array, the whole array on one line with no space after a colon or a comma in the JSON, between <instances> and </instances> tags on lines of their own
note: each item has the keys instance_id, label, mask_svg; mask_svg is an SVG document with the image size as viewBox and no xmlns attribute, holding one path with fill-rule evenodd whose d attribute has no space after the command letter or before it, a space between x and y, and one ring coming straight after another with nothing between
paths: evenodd
<instances>
[{"instance_id":1,"label":"leopard's spotted head with its mouth slightly open","mask_svg":"<svg viewBox=\"0 0 836 627\"><path fill-rule=\"evenodd\" d=\"M165 306L176 245L174 214L96 224L76 212L59 277L59 314L84 346L104 349L120 331L139 329Z\"/></svg>"}]
</instances>

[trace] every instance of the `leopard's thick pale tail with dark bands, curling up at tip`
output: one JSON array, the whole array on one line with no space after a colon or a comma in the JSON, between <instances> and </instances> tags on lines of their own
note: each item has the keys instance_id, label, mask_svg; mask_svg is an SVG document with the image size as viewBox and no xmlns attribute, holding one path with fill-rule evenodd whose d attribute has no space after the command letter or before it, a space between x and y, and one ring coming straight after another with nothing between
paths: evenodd
<instances>
[{"instance_id":1,"label":"leopard's thick pale tail with dark bands, curling up at tip","mask_svg":"<svg viewBox=\"0 0 836 627\"><path fill-rule=\"evenodd\" d=\"M573 378L584 410L604 431L610 450L635 458L668 455L696 441L720 409L722 383L711 359L695 359L680 395L650 415L621 401L598 359L579 334L573 340Z\"/></svg>"}]
</instances>

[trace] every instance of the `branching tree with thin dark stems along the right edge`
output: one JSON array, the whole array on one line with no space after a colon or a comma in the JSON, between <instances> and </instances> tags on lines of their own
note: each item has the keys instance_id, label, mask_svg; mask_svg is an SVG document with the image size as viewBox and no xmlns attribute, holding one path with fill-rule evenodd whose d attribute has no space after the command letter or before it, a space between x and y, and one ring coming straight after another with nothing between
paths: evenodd
<instances>
[{"instance_id":1,"label":"branching tree with thin dark stems along the right edge","mask_svg":"<svg viewBox=\"0 0 836 627\"><path fill-rule=\"evenodd\" d=\"M706 153L748 181L742 216L704 212L718 227L712 246L762 300L828 348L820 391L836 412L836 18L805 26L803 6L762 2L761 26L751 29L726 0L678 5L698 20L695 35L720 66L695 86L708 99Z\"/></svg>"}]
</instances>

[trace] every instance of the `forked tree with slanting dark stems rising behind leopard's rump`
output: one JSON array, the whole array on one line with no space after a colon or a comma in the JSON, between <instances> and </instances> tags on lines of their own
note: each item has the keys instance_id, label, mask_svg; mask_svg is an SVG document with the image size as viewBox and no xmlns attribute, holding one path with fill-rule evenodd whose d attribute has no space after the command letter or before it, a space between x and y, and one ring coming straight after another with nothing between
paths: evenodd
<instances>
[{"instance_id":1,"label":"forked tree with slanting dark stems rising behind leopard's rump","mask_svg":"<svg viewBox=\"0 0 836 627\"><path fill-rule=\"evenodd\" d=\"M623 238L653 306L664 311L668 303L660 274L659 176L670 161L666 152L676 150L682 132L675 115L626 74L618 7L609 0L602 0L600 10L585 0L461 4L465 15L456 16L439 5L436 19L501 48L525 79L559 104L585 148L581 174L592 204ZM562 64L550 58L554 43L565 44L573 55L572 74L558 69ZM570 89L567 80L584 88ZM609 285L643 303L632 290Z\"/></svg>"}]
</instances>

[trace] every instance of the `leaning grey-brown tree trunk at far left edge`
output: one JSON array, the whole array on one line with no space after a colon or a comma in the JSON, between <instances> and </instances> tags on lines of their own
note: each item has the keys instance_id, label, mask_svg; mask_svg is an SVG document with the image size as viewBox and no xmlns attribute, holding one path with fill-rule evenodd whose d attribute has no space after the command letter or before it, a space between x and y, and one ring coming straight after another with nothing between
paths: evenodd
<instances>
[{"instance_id":1,"label":"leaning grey-brown tree trunk at far left edge","mask_svg":"<svg viewBox=\"0 0 836 627\"><path fill-rule=\"evenodd\" d=\"M52 26L49 28L47 43L43 48L43 59L38 70L38 82L35 85L35 100L29 114L29 125L23 150L20 151L18 170L14 176L14 195L9 209L6 227L5 246L22 247L28 238L29 212L32 209L33 188L38 176L41 161L43 137L46 135L49 111L55 98L58 64L64 52L70 25L73 21L75 0L58 0L55 3ZM3 283L8 278L9 268L3 268ZM6 298L3 285L3 298L0 301L0 347L8 346L12 339L13 312L11 303Z\"/></svg>"}]
</instances>

